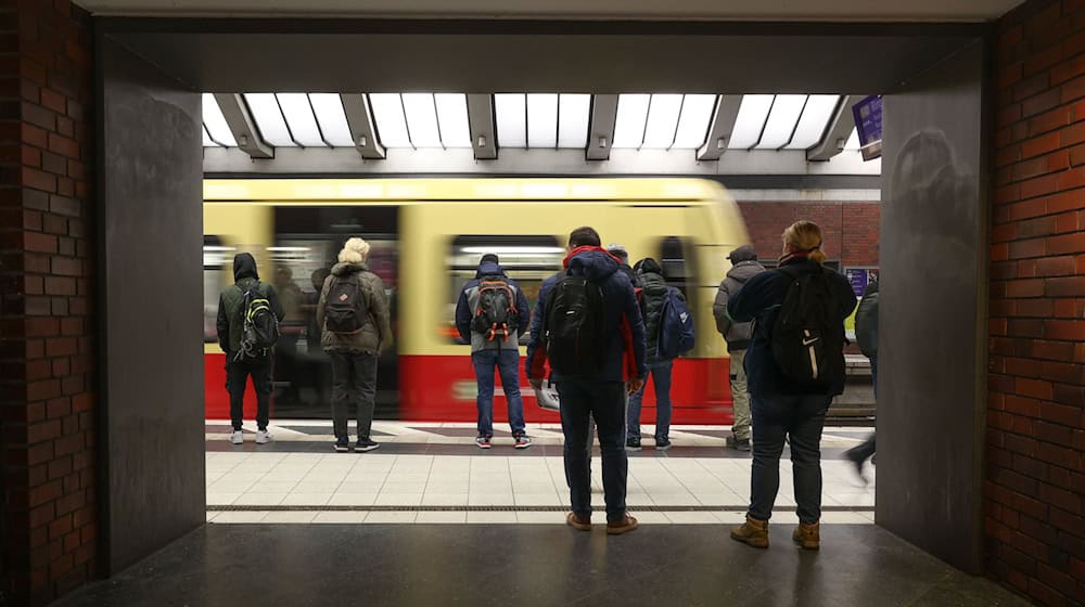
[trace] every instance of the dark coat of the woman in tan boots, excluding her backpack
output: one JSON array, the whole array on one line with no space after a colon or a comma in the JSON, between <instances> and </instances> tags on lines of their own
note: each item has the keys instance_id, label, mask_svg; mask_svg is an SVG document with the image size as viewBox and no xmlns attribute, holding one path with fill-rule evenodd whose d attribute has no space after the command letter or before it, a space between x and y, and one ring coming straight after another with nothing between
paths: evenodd
<instances>
[{"instance_id":1,"label":"dark coat of the woman in tan boots, excluding her backpack","mask_svg":"<svg viewBox=\"0 0 1085 607\"><path fill-rule=\"evenodd\" d=\"M783 263L793 267L801 273L817 271L818 264L805 257L794 257ZM824 269L829 274L829 282L835 295L835 315L840 319L841 334L844 332L844 319L855 309L855 293L847 279L829 268ZM727 302L727 311L735 322L756 320L753 340L745 356L745 372L749 391L755 397L771 397L774 395L809 395L808 388L801 387L789 379L780 370L773 356L769 340L776 317L780 312L783 297L793 280L779 270L762 272L746 281L741 290L731 295ZM843 356L843 354L841 354ZM837 385L829 386L827 396L837 396L844 391L844 378L839 378ZM826 393L826 392L816 392Z\"/></svg>"}]
</instances>

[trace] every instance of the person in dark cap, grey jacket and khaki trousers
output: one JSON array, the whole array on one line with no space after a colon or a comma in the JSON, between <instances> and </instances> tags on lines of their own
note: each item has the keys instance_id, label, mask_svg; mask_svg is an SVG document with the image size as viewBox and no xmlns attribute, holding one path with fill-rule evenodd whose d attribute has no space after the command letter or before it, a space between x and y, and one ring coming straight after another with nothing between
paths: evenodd
<instances>
[{"instance_id":1,"label":"person in dark cap, grey jacket and khaki trousers","mask_svg":"<svg viewBox=\"0 0 1085 607\"><path fill-rule=\"evenodd\" d=\"M757 253L750 245L742 245L727 256L731 269L727 277L719 283L716 300L712 305L712 314L716 319L716 331L727 341L727 353L730 356L731 400L735 408L735 424L727 447L739 451L750 451L750 395L746 393L745 369L743 367L745 351L753 336L753 323L737 323L727 313L727 300L756 274L765 271L757 262Z\"/></svg>"}]
</instances>

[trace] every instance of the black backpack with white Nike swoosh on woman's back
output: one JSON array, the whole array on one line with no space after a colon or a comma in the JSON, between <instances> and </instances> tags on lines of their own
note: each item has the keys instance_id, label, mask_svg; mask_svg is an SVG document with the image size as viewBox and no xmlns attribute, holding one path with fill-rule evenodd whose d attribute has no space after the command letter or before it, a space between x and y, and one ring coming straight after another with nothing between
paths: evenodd
<instances>
[{"instance_id":1,"label":"black backpack with white Nike swoosh on woman's back","mask_svg":"<svg viewBox=\"0 0 1085 607\"><path fill-rule=\"evenodd\" d=\"M839 386L844 378L844 326L837 318L837 298L824 268L791 279L769 343L783 375L810 389Z\"/></svg>"}]
</instances>

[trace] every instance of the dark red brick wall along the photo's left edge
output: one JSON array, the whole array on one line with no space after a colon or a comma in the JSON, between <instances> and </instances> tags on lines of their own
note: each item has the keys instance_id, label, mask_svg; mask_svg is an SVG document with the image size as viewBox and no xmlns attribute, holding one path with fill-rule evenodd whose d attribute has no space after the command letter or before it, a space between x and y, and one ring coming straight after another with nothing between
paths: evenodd
<instances>
[{"instance_id":1,"label":"dark red brick wall along the photo's left edge","mask_svg":"<svg viewBox=\"0 0 1085 607\"><path fill-rule=\"evenodd\" d=\"M0 8L0 603L94 572L90 51L68 0Z\"/></svg>"}]
</instances>

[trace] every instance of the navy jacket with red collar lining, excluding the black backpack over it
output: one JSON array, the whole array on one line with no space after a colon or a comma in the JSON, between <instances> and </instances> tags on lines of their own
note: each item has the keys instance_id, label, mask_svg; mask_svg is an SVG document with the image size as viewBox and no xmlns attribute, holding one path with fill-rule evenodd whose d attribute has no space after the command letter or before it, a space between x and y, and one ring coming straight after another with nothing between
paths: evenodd
<instances>
[{"instance_id":1,"label":"navy jacket with red collar lining, excluding the black backpack over it","mask_svg":"<svg viewBox=\"0 0 1085 607\"><path fill-rule=\"evenodd\" d=\"M574 274L587 276L603 292L607 312L603 317L603 361L593 376L585 379L595 382L625 382L633 377L644 377L648 365L644 360L644 322L640 317L640 306L628 276L618 271L618 260L600 247L578 247L565 258L564 266ZM546 373L546 344L542 328L546 326L547 296L561 274L551 276L539 289L538 302L532 312L531 341L527 343L527 376L541 379ZM560 380L560 377L554 377Z\"/></svg>"}]
</instances>

